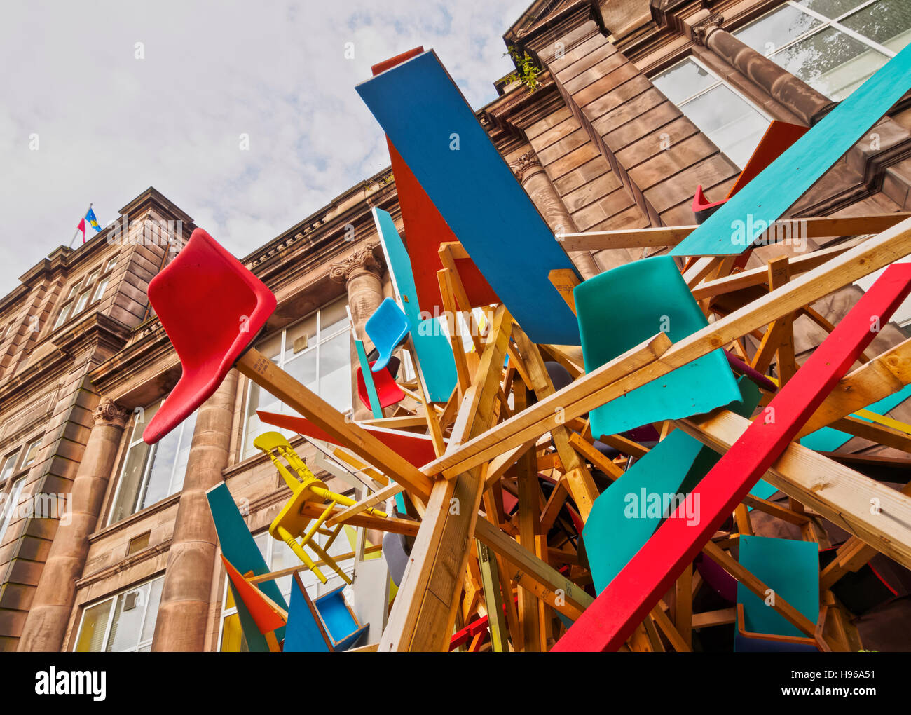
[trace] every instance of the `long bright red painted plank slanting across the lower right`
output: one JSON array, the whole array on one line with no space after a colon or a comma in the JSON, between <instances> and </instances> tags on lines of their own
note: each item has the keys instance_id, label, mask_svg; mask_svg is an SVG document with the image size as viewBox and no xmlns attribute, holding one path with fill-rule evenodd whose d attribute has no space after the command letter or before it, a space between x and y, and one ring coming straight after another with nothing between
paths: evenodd
<instances>
[{"instance_id":1,"label":"long bright red painted plank slanting across the lower right","mask_svg":"<svg viewBox=\"0 0 911 715\"><path fill-rule=\"evenodd\" d=\"M746 429L687 497L690 504L659 527L553 651L619 649L873 341L874 320L885 325L909 292L911 264L889 266L769 403L774 412L765 414L774 421L757 419ZM694 524L685 517L691 505L699 506Z\"/></svg>"}]
</instances>

